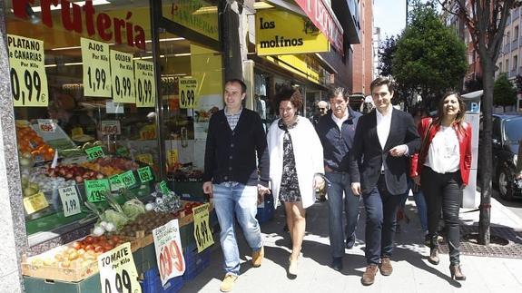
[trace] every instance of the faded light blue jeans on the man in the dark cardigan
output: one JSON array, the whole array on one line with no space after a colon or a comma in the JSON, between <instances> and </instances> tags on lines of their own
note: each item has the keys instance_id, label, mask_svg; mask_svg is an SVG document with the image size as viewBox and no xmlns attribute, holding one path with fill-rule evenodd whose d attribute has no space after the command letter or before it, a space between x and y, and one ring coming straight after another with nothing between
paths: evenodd
<instances>
[{"instance_id":1,"label":"faded light blue jeans on the man in the dark cardigan","mask_svg":"<svg viewBox=\"0 0 522 293\"><path fill-rule=\"evenodd\" d=\"M228 274L240 273L240 251L234 230L234 215L240 223L245 239L253 251L261 249L261 229L256 219L257 186L224 182L213 185L213 202L218 215L221 233L223 269Z\"/></svg>"}]
</instances>

